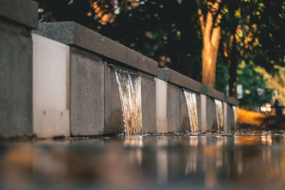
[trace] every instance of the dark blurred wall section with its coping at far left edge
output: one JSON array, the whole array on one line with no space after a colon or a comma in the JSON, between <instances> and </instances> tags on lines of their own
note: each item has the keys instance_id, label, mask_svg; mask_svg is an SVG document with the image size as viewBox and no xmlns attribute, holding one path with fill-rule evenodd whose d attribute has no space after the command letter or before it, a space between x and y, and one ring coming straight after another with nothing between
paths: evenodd
<instances>
[{"instance_id":1,"label":"dark blurred wall section with its coping at far left edge","mask_svg":"<svg viewBox=\"0 0 285 190\"><path fill-rule=\"evenodd\" d=\"M1 0L0 136L33 134L31 30L37 27L34 1Z\"/></svg>"}]
</instances>

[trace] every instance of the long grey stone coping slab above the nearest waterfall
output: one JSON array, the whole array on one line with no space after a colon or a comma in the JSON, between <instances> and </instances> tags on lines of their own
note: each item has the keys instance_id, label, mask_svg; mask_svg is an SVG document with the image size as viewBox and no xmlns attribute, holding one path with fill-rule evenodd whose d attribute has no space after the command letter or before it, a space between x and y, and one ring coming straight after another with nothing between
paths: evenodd
<instances>
[{"instance_id":1,"label":"long grey stone coping slab above the nearest waterfall","mask_svg":"<svg viewBox=\"0 0 285 190\"><path fill-rule=\"evenodd\" d=\"M142 56L142 54L79 23L73 21L39 23L38 30L33 31L33 33L67 45L85 48L88 51L117 60L150 75L157 75L158 63L155 60Z\"/></svg>"}]
</instances>

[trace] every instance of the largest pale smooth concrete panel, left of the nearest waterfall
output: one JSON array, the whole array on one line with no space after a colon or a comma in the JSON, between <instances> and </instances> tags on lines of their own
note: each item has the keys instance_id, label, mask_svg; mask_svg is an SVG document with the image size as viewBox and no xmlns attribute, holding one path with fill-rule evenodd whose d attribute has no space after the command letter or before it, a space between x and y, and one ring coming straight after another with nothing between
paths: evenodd
<instances>
[{"instance_id":1,"label":"largest pale smooth concrete panel, left of the nearest waterfall","mask_svg":"<svg viewBox=\"0 0 285 190\"><path fill-rule=\"evenodd\" d=\"M70 135L70 49L33 34L33 132L37 137Z\"/></svg>"}]
</instances>

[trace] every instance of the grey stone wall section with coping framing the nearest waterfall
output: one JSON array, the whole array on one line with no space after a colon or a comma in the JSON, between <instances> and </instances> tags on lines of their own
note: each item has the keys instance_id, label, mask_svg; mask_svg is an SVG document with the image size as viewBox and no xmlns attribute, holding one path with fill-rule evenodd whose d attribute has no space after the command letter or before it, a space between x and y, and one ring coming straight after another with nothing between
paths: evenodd
<instances>
[{"instance_id":1,"label":"grey stone wall section with coping framing the nearest waterfall","mask_svg":"<svg viewBox=\"0 0 285 190\"><path fill-rule=\"evenodd\" d=\"M140 73L142 130L156 132L157 62L74 22L40 23L33 32L71 47L71 135L125 132L113 65Z\"/></svg>"}]
</instances>

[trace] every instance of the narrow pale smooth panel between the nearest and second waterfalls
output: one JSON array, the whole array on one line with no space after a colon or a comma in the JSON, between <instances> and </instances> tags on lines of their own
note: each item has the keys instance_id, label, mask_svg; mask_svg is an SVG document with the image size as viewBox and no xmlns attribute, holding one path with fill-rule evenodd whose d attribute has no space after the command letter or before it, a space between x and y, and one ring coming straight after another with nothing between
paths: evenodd
<instances>
[{"instance_id":1,"label":"narrow pale smooth panel between the nearest and second waterfalls","mask_svg":"<svg viewBox=\"0 0 285 190\"><path fill-rule=\"evenodd\" d=\"M155 78L157 132L167 132L167 83Z\"/></svg>"}]
</instances>

